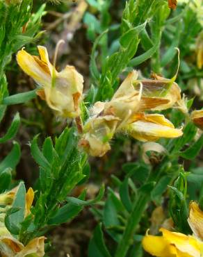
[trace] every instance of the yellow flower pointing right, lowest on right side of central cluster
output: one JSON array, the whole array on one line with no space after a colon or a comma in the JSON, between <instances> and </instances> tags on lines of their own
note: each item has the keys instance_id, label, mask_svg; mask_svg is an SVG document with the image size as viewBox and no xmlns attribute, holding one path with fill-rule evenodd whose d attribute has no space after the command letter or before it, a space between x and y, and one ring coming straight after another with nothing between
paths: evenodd
<instances>
[{"instance_id":1,"label":"yellow flower pointing right, lowest on right side of central cluster","mask_svg":"<svg viewBox=\"0 0 203 257\"><path fill-rule=\"evenodd\" d=\"M159 114L136 114L131 118L131 123L121 129L143 142L177 138L183 134L181 128L174 128L168 119Z\"/></svg>"}]
</instances>

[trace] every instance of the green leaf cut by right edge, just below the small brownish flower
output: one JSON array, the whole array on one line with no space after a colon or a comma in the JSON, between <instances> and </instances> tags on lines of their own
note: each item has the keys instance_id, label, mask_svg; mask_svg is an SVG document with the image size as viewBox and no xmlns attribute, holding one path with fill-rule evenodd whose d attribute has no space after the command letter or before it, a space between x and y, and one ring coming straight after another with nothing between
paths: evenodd
<instances>
[{"instance_id":1,"label":"green leaf cut by right edge, just below the small brownish flower","mask_svg":"<svg viewBox=\"0 0 203 257\"><path fill-rule=\"evenodd\" d=\"M201 151L203 147L203 135L188 149L185 151L180 152L180 156L187 159L187 160L193 160Z\"/></svg>"}]
</instances>

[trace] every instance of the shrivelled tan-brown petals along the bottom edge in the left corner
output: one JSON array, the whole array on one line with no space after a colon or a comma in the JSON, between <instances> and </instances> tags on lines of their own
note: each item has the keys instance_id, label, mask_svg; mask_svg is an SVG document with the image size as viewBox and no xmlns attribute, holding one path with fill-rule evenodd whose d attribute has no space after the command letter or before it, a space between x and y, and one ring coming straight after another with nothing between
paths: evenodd
<instances>
[{"instance_id":1,"label":"shrivelled tan-brown petals along the bottom edge in the left corner","mask_svg":"<svg viewBox=\"0 0 203 257\"><path fill-rule=\"evenodd\" d=\"M0 236L0 251L3 257L44 256L44 236L34 238L26 246L10 235Z\"/></svg>"}]
</instances>

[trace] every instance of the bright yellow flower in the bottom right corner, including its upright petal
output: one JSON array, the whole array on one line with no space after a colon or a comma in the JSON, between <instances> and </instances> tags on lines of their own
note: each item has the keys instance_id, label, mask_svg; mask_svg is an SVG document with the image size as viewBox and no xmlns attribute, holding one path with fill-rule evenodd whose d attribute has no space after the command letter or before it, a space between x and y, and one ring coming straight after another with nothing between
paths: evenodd
<instances>
[{"instance_id":1,"label":"bright yellow flower in the bottom right corner, including its upright petal","mask_svg":"<svg viewBox=\"0 0 203 257\"><path fill-rule=\"evenodd\" d=\"M145 251L157 257L202 257L203 212L195 202L190 203L188 223L194 236L160 229L162 236L145 235Z\"/></svg>"}]
</instances>

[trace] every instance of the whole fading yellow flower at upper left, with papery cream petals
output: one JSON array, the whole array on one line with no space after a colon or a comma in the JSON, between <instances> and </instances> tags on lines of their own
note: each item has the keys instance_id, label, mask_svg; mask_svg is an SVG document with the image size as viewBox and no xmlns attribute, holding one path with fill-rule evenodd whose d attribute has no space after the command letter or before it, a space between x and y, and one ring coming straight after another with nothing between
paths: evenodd
<instances>
[{"instance_id":1,"label":"whole fading yellow flower at upper left, with papery cream petals","mask_svg":"<svg viewBox=\"0 0 203 257\"><path fill-rule=\"evenodd\" d=\"M17 53L17 63L31 76L42 90L38 94L48 106L62 117L77 117L83 93L83 76L73 66L67 65L61 72L49 62L45 47L38 46L40 58L22 49Z\"/></svg>"}]
</instances>

